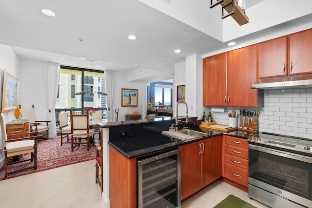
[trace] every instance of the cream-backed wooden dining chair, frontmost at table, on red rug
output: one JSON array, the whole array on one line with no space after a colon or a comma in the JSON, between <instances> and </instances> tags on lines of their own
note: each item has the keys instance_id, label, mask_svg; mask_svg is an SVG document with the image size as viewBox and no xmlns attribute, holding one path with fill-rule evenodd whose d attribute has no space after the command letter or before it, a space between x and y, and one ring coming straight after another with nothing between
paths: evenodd
<instances>
[{"instance_id":1,"label":"cream-backed wooden dining chair, frontmost at table, on red rug","mask_svg":"<svg viewBox=\"0 0 312 208\"><path fill-rule=\"evenodd\" d=\"M94 139L94 129L89 127L89 113L73 114L70 111L70 126L72 132L72 151L74 148L80 147L80 144L86 144L87 150L90 151L90 138ZM86 142L82 141L86 139Z\"/></svg>"}]
</instances>

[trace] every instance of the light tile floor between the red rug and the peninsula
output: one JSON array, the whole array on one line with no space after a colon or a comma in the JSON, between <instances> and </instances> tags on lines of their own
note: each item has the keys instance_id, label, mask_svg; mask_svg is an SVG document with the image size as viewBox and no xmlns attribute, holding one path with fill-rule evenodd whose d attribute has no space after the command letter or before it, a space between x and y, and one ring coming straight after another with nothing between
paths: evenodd
<instances>
[{"instance_id":1,"label":"light tile floor between the red rug and the peninsula","mask_svg":"<svg viewBox=\"0 0 312 208\"><path fill-rule=\"evenodd\" d=\"M105 208L95 160L0 181L0 208Z\"/></svg>"}]
</instances>

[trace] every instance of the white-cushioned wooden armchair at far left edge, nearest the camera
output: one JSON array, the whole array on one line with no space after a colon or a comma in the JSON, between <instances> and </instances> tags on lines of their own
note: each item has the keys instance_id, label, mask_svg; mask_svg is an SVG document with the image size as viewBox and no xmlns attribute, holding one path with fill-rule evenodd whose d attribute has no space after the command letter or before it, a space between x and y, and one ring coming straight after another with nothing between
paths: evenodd
<instances>
[{"instance_id":1,"label":"white-cushioned wooden armchair at far left edge, nearest the camera","mask_svg":"<svg viewBox=\"0 0 312 208\"><path fill-rule=\"evenodd\" d=\"M1 134L2 134L2 142L3 142L3 149L4 149L4 178L7 177L10 173L15 173L22 170L28 170L31 168L37 169L37 138L42 137L42 135L37 136L28 136L30 134L35 134L36 132L24 132L24 133L18 133L18 134L6 134L6 126L4 121L4 115L1 112L0 109L0 126L1 126ZM14 139L10 139L10 137L13 137ZM26 136L26 137L25 137ZM28 136L28 137L27 137ZM20 137L20 138L16 138ZM9 157L17 156L20 157L22 154L31 153L31 158L28 160L22 160L22 161L15 161L13 162ZM19 162L25 162L25 161L31 161L34 162L33 167L24 168L20 170L15 170L12 172L7 171L7 166L11 164L16 164Z\"/></svg>"}]
</instances>

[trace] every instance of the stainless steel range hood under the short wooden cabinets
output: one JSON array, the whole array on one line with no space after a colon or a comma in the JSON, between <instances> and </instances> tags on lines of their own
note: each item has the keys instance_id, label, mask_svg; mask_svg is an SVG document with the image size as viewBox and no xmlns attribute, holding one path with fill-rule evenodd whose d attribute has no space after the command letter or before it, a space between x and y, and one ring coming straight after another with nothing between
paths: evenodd
<instances>
[{"instance_id":1,"label":"stainless steel range hood under the short wooden cabinets","mask_svg":"<svg viewBox=\"0 0 312 208\"><path fill-rule=\"evenodd\" d=\"M252 84L252 89L260 90L293 88L312 88L312 74L261 78Z\"/></svg>"}]
</instances>

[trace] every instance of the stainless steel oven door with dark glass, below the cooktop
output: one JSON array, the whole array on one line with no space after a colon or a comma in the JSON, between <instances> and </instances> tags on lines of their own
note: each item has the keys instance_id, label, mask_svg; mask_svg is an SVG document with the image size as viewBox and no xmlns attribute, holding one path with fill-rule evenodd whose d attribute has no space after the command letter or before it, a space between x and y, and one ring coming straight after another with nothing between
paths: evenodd
<instances>
[{"instance_id":1,"label":"stainless steel oven door with dark glass, below the cooktop","mask_svg":"<svg viewBox=\"0 0 312 208\"><path fill-rule=\"evenodd\" d=\"M312 158L249 144L249 184L311 206Z\"/></svg>"}]
</instances>

